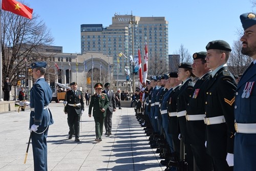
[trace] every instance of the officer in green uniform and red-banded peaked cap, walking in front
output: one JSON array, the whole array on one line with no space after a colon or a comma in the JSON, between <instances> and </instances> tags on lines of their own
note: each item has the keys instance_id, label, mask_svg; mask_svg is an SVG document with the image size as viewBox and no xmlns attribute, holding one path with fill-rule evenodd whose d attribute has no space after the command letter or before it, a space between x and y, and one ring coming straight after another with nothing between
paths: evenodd
<instances>
[{"instance_id":1,"label":"officer in green uniform and red-banded peaked cap, walking in front","mask_svg":"<svg viewBox=\"0 0 256 171\"><path fill-rule=\"evenodd\" d=\"M89 117L92 116L93 108L93 117L95 121L95 133L96 133L96 142L102 141L101 135L103 132L104 119L106 116L106 109L108 109L110 101L106 94L101 93L102 83L96 83L94 89L96 93L92 95L90 105L89 105Z\"/></svg>"}]
</instances>

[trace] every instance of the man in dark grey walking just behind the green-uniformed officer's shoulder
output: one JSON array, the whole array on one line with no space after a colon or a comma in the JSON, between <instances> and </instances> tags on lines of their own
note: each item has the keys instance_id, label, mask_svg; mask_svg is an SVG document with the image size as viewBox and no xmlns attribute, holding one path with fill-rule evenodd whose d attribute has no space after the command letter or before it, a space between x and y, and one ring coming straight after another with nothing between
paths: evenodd
<instances>
[{"instance_id":1,"label":"man in dark grey walking just behind the green-uniformed officer's shoulder","mask_svg":"<svg viewBox=\"0 0 256 171\"><path fill-rule=\"evenodd\" d=\"M115 94L110 91L110 83L105 83L104 84L105 90L102 91L102 93L108 95L109 101L110 101L110 105L109 108L106 110L106 117L105 117L105 121L104 121L104 125L105 125L105 135L110 136L111 130L112 130L112 115L113 112L116 111L116 97Z\"/></svg>"}]
</instances>

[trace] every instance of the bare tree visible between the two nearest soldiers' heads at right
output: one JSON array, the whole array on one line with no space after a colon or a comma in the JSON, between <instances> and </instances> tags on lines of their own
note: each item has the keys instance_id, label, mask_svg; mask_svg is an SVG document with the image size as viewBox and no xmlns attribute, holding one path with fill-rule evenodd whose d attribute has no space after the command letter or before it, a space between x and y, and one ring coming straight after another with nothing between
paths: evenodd
<instances>
[{"instance_id":1,"label":"bare tree visible between the two nearest soldiers' heads at right","mask_svg":"<svg viewBox=\"0 0 256 171\"><path fill-rule=\"evenodd\" d=\"M234 75L243 74L252 61L250 57L242 54L241 50L242 42L240 40L235 40L233 42L232 51L227 62L230 71Z\"/></svg>"}]
</instances>

